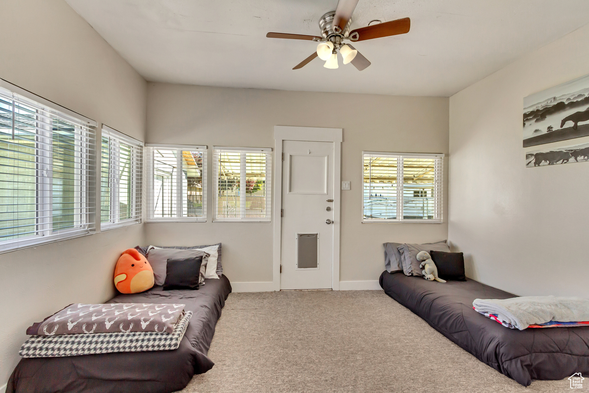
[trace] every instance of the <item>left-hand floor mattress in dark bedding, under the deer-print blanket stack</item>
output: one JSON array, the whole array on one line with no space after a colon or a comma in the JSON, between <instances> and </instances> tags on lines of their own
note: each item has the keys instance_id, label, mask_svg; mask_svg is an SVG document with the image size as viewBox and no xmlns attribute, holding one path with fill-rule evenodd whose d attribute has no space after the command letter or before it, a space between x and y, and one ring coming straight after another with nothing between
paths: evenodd
<instances>
[{"instance_id":1,"label":"left-hand floor mattress in dark bedding, under the deer-print blanket stack","mask_svg":"<svg viewBox=\"0 0 589 393\"><path fill-rule=\"evenodd\" d=\"M178 349L22 358L8 380L6 393L166 393L183 389L194 374L203 374L214 365L207 352L231 292L224 275L205 282L198 290L164 291L155 286L142 293L120 293L107 302L185 304L184 309L192 311L193 316Z\"/></svg>"}]
</instances>

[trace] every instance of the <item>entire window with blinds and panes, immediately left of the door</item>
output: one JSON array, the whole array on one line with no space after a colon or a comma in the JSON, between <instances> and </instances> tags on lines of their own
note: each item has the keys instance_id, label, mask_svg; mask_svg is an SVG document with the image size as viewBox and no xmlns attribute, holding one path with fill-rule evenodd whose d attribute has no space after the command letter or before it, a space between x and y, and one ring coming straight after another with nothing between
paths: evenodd
<instances>
[{"instance_id":1,"label":"entire window with blinds and panes, immediately left of the door","mask_svg":"<svg viewBox=\"0 0 589 393\"><path fill-rule=\"evenodd\" d=\"M270 222L272 149L213 149L213 220Z\"/></svg>"}]
</instances>

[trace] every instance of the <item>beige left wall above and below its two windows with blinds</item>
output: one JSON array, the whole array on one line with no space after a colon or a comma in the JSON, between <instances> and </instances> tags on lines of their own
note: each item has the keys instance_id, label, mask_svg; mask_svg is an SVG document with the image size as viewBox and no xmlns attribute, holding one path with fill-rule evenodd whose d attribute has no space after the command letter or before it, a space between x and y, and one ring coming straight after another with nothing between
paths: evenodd
<instances>
[{"instance_id":1,"label":"beige left wall above and below its two windows with blinds","mask_svg":"<svg viewBox=\"0 0 589 393\"><path fill-rule=\"evenodd\" d=\"M0 78L144 140L146 83L62 0L0 0ZM0 254L0 385L19 361L27 327L75 302L114 293L121 250L143 225Z\"/></svg>"}]
</instances>

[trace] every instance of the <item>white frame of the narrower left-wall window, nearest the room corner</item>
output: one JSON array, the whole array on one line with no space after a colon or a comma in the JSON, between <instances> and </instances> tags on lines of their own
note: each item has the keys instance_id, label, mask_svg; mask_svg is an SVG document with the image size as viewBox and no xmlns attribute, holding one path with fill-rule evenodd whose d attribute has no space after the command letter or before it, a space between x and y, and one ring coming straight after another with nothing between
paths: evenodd
<instances>
[{"instance_id":1,"label":"white frame of the narrower left-wall window, nearest the room corner","mask_svg":"<svg viewBox=\"0 0 589 393\"><path fill-rule=\"evenodd\" d=\"M115 209L115 204L112 203L113 200L118 199L120 189L118 187L118 181L115 181L115 177L118 176L118 173L115 173L115 176L111 176L110 170L114 168L119 168L120 160L117 155L111 155L111 143L109 140L108 143L108 188L110 190L110 209L109 209L109 217L111 220L108 222L102 222L102 137L104 134L107 133L108 136L114 138L115 144L120 144L121 142L128 144L133 147L133 151L138 151L139 154L133 154L133 159L131 160L131 167L129 170L130 174L130 183L131 183L131 212L134 213L134 217L129 219L120 220L118 214L120 213L119 209ZM97 144L98 145L98 144ZM120 146L119 146L120 148ZM100 153L98 153L100 151ZM119 150L120 152L120 150ZM114 128L108 127L106 124L102 124L102 134L100 136L100 148L97 148L97 156L101 157L100 160L100 212L97 212L98 221L100 221L100 231L103 232L105 230L117 229L129 225L140 224L141 219L143 217L143 203L141 203L143 198L143 142L137 140L133 137L130 137L126 134L121 133L120 131L115 130ZM120 154L120 153L119 153ZM113 162L115 161L115 162ZM97 160L98 162L98 160ZM115 184L116 183L116 184Z\"/></svg>"}]
</instances>

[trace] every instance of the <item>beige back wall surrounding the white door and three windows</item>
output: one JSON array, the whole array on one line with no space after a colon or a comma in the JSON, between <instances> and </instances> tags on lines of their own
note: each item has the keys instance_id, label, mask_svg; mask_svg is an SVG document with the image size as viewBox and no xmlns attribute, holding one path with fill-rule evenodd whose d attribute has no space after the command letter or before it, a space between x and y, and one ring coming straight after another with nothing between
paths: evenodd
<instances>
[{"instance_id":1,"label":"beige back wall surrounding the white door and three windows","mask_svg":"<svg viewBox=\"0 0 589 393\"><path fill-rule=\"evenodd\" d=\"M448 153L448 98L148 83L147 143L274 148L274 126L343 128L340 280L378 280L383 242L446 239L447 224L362 224L362 151ZM273 186L273 190L276 187ZM223 243L232 282L272 281L270 223L146 223L146 244Z\"/></svg>"}]
</instances>

